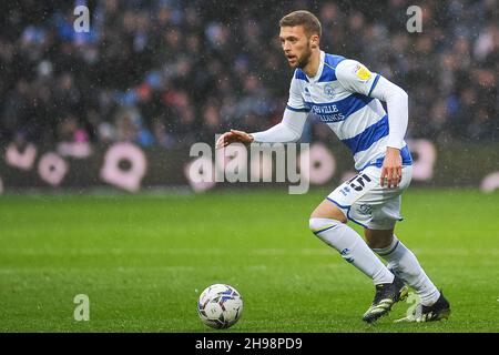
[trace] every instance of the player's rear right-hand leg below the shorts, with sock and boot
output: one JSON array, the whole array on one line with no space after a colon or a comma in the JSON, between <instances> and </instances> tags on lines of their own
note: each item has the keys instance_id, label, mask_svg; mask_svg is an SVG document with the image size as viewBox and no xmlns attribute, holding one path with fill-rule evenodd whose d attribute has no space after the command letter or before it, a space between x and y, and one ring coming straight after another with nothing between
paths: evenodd
<instances>
[{"instance_id":1,"label":"player's rear right-hand leg below the shorts, with sock and boot","mask_svg":"<svg viewBox=\"0 0 499 355\"><path fill-rule=\"evenodd\" d=\"M388 262L388 268L418 293L420 321L447 318L450 313L448 301L427 276L416 255L397 239L394 229L365 229L364 234L369 247Z\"/></svg>"}]
</instances>

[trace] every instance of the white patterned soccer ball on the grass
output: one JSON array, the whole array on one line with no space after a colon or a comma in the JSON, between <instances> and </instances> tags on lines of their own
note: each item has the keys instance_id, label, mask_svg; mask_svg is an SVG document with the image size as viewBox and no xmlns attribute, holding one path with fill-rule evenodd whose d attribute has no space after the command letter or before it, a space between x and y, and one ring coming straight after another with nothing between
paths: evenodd
<instances>
[{"instance_id":1,"label":"white patterned soccer ball on the grass","mask_svg":"<svg viewBox=\"0 0 499 355\"><path fill-rule=\"evenodd\" d=\"M204 324L216 329L228 328L241 318L243 298L234 287L214 284L201 293L197 313Z\"/></svg>"}]
</instances>

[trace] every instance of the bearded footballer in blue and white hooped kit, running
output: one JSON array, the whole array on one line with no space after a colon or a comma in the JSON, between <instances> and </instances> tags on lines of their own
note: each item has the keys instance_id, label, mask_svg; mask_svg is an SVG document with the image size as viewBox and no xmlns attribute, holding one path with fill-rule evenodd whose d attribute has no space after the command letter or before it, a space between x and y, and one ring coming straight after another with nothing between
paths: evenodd
<instances>
[{"instance_id":1,"label":"bearded footballer in blue and white hooped kit, running","mask_svg":"<svg viewBox=\"0 0 499 355\"><path fill-rule=\"evenodd\" d=\"M407 93L358 61L322 51L320 22L313 13L294 11L281 19L279 26L284 55L295 69L282 122L256 133L231 130L216 145L296 142L307 116L316 115L352 151L358 174L312 212L309 227L373 280L375 297L363 320L371 323L388 314L407 296L408 286L420 296L410 321L447 318L449 302L394 234L396 222L401 221L401 194L413 171L404 141ZM380 101L386 102L388 112ZM364 227L365 240L346 224L348 220Z\"/></svg>"}]
</instances>

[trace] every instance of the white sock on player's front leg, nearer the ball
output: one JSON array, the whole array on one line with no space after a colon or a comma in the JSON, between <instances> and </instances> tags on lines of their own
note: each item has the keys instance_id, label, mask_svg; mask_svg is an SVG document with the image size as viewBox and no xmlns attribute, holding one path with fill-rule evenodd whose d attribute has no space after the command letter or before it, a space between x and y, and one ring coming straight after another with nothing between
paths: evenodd
<instances>
[{"instance_id":1,"label":"white sock on player's front leg, nearer the ball","mask_svg":"<svg viewBox=\"0 0 499 355\"><path fill-rule=\"evenodd\" d=\"M330 219L310 219L312 232L336 248L343 258L373 278L375 285L390 284L394 274L367 246L357 232L348 225Z\"/></svg>"}]
</instances>

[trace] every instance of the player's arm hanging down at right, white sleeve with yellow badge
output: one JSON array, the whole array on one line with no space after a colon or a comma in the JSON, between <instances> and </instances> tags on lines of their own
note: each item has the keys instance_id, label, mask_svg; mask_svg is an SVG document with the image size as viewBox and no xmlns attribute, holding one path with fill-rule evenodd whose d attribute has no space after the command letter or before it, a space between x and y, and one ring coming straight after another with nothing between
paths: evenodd
<instances>
[{"instance_id":1,"label":"player's arm hanging down at right, white sleeve with yellow badge","mask_svg":"<svg viewBox=\"0 0 499 355\"><path fill-rule=\"evenodd\" d=\"M385 101L388 109L389 134L381 169L381 186L396 187L401 181L400 149L408 122L407 93L380 74L371 73L355 60L344 60L336 68L338 81L353 92Z\"/></svg>"}]
</instances>

